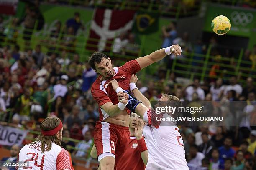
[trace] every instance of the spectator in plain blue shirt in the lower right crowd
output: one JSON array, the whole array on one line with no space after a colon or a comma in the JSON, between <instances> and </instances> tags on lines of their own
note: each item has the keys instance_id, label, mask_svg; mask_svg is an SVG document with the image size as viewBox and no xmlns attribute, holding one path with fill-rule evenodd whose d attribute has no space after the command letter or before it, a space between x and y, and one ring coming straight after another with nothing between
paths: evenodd
<instances>
[{"instance_id":1,"label":"spectator in plain blue shirt in the lower right crowd","mask_svg":"<svg viewBox=\"0 0 256 170\"><path fill-rule=\"evenodd\" d=\"M233 158L235 155L235 150L231 148L232 146L232 138L226 137L224 140L224 146L219 148L220 151L220 159L223 161L225 158Z\"/></svg>"}]
</instances>

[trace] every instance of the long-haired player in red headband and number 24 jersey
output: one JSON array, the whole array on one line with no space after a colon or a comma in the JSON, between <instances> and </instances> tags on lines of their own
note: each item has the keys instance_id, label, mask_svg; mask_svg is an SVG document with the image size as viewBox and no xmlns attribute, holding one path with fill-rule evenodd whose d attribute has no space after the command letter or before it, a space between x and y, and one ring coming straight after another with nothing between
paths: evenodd
<instances>
[{"instance_id":1,"label":"long-haired player in red headband and number 24 jersey","mask_svg":"<svg viewBox=\"0 0 256 170\"><path fill-rule=\"evenodd\" d=\"M18 170L74 170L69 153L60 147L61 120L47 117L40 128L37 140L21 148L18 161L27 162L28 166L19 166Z\"/></svg>"}]
</instances>

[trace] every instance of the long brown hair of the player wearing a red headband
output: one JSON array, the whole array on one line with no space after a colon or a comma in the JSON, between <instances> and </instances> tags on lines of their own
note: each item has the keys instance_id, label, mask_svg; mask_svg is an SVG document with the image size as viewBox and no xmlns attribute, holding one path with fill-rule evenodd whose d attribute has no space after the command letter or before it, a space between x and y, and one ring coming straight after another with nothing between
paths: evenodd
<instances>
[{"instance_id":1,"label":"long brown hair of the player wearing a red headband","mask_svg":"<svg viewBox=\"0 0 256 170\"><path fill-rule=\"evenodd\" d=\"M40 129L41 130L52 130L54 128L56 128L59 123L60 123L60 119L58 117L47 117L45 120L43 120L43 122L41 122L40 125ZM57 137L57 134L52 135L52 136L44 136L42 134L40 134L37 138L36 141L33 143L38 143L39 141L41 141L41 151L42 153L44 153L45 151L49 151L51 150L51 142L57 144L57 145L61 145L61 140L59 140L59 138ZM46 145L46 147L45 147Z\"/></svg>"}]
</instances>

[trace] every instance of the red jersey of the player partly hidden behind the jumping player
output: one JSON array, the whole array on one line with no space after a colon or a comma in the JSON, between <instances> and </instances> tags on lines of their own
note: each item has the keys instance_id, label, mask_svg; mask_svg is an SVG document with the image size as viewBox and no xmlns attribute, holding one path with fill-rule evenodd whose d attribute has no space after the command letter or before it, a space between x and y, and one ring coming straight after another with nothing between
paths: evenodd
<instances>
[{"instance_id":1,"label":"red jersey of the player partly hidden behind the jumping player","mask_svg":"<svg viewBox=\"0 0 256 170\"><path fill-rule=\"evenodd\" d=\"M146 144L145 144L146 145ZM145 170L145 165L141 158L141 151L136 137L131 136L129 145L126 148L121 161L119 161L117 170Z\"/></svg>"}]
</instances>

